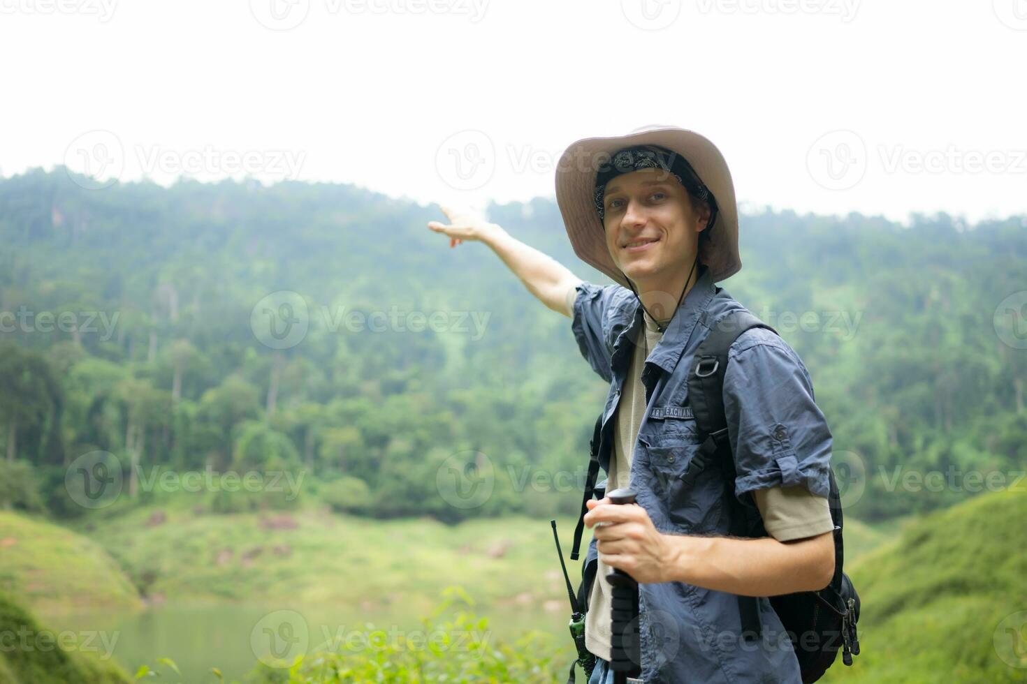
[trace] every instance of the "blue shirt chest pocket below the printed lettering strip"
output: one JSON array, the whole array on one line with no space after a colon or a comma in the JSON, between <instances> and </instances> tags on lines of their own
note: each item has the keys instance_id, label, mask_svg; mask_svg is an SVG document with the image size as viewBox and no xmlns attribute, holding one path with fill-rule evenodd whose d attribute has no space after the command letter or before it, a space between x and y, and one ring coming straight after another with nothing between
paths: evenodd
<instances>
[{"instance_id":1,"label":"blue shirt chest pocket below the printed lettering strip","mask_svg":"<svg viewBox=\"0 0 1027 684\"><path fill-rule=\"evenodd\" d=\"M677 531L714 532L722 518L724 472L716 456L699 452L693 421L655 424L639 435L649 485Z\"/></svg>"}]
</instances>

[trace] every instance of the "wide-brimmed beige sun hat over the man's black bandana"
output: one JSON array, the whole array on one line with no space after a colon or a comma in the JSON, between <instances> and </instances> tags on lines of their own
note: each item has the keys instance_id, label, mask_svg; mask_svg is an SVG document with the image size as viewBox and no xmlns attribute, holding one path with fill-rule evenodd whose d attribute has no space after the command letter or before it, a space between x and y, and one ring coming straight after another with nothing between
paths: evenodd
<instances>
[{"instance_id":1,"label":"wide-brimmed beige sun hat over the man's black bandana","mask_svg":"<svg viewBox=\"0 0 1027 684\"><path fill-rule=\"evenodd\" d=\"M737 273L741 268L738 207L727 162L709 139L677 126L643 126L618 137L585 137L567 148L557 165L557 205L574 253L615 282L630 287L606 246L606 231L596 211L593 191L599 166L618 150L635 145L659 145L688 160L718 207L717 219L709 229L709 240L700 241L699 263L710 268L714 282Z\"/></svg>"}]
</instances>

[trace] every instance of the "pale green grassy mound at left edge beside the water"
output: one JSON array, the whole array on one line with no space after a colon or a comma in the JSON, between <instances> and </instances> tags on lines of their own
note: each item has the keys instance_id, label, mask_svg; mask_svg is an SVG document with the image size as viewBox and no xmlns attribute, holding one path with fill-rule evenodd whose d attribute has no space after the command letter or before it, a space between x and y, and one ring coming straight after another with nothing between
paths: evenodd
<instances>
[{"instance_id":1,"label":"pale green grassy mound at left edge beside the water","mask_svg":"<svg viewBox=\"0 0 1027 684\"><path fill-rule=\"evenodd\" d=\"M131 582L94 541L0 512L0 590L37 612L141 607Z\"/></svg>"}]
</instances>

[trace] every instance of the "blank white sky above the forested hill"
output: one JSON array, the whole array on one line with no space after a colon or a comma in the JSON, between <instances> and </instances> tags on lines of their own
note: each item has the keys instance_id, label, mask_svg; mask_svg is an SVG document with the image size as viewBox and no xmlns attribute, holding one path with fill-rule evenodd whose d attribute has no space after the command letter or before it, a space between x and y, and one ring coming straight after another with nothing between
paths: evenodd
<instances>
[{"instance_id":1,"label":"blank white sky above the forested hill","mask_svg":"<svg viewBox=\"0 0 1027 684\"><path fill-rule=\"evenodd\" d=\"M1027 0L0 0L0 64L4 176L249 154L482 204L659 123L717 144L744 208L1027 212Z\"/></svg>"}]
</instances>

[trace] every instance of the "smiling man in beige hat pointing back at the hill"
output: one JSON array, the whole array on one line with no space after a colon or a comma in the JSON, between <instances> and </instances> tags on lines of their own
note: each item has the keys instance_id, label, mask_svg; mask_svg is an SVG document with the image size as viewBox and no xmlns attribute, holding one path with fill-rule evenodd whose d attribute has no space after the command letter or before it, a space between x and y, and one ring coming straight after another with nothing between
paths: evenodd
<instances>
[{"instance_id":1,"label":"smiling man in beige hat pointing back at the hill","mask_svg":"<svg viewBox=\"0 0 1027 684\"><path fill-rule=\"evenodd\" d=\"M715 281L740 267L734 188L706 137L676 127L578 140L557 171L557 200L575 252L617 284L582 282L494 224L444 209L431 230L481 240L545 306L572 319L582 356L610 383L600 464L609 489L638 506L589 501L586 562L598 562L585 644L589 684L613 681L609 568L639 582L641 680L800 682L768 596L823 589L834 571L828 507L831 433L798 355L765 328L732 345L724 409L734 481L706 468L682 477L698 448L687 410L696 349L745 310ZM729 534L744 507L770 536ZM737 596L760 597L762 639L741 639Z\"/></svg>"}]
</instances>

